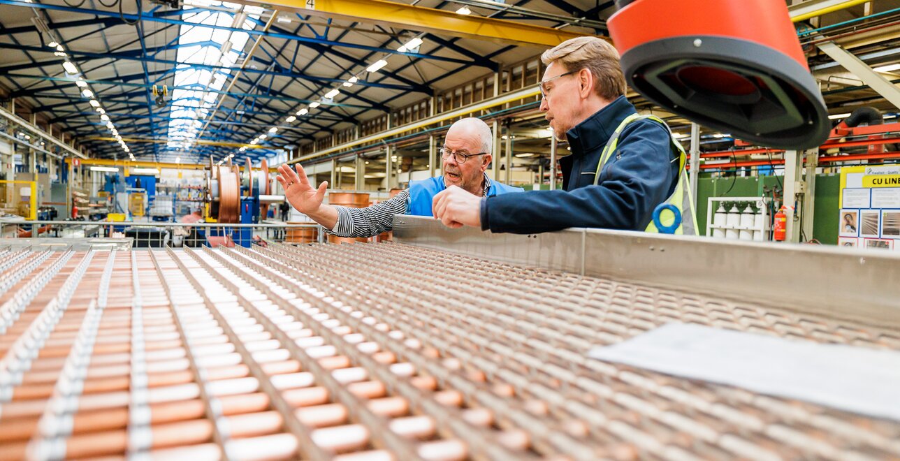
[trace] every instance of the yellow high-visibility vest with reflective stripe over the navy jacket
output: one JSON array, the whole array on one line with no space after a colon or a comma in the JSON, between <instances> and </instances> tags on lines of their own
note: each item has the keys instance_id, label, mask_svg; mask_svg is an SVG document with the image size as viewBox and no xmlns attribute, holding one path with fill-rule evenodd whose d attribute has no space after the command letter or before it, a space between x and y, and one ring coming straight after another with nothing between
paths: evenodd
<instances>
[{"instance_id":1,"label":"yellow high-visibility vest with reflective stripe over the navy jacket","mask_svg":"<svg viewBox=\"0 0 900 461\"><path fill-rule=\"evenodd\" d=\"M594 175L594 185L599 184L600 180L600 170L603 169L603 166L607 164L607 160L612 157L613 152L616 151L618 147L618 138L619 135L622 134L622 131L625 130L625 127L628 123L635 122L637 120L649 119L653 120L653 122L660 123L663 127L665 127L666 131L669 131L669 140L671 143L671 147L679 152L679 176L678 176L678 184L675 185L675 190L672 191L672 194L669 198L666 199L664 203L671 203L678 208L679 212L681 212L681 225L675 230L676 234L683 235L696 235L697 234L697 213L694 211L694 202L690 197L690 187L688 187L687 181L687 171L685 171L684 167L688 163L688 154L684 151L684 148L681 147L681 144L678 140L672 137L671 129L666 122L663 122L661 118L655 115L639 115L637 113L633 113L628 115L625 120L619 123L619 126L616 128L616 131L613 131L613 135L609 137L607 141L607 145L603 147L603 152L600 154L600 161L597 164L597 173ZM658 205L659 203L657 203ZM675 217L671 215L671 213L662 213L660 216L660 221L663 226L671 225L673 221L675 221ZM650 221L650 224L647 225L647 229L645 232L659 232L656 229L656 225L653 224L653 220Z\"/></svg>"}]
</instances>

